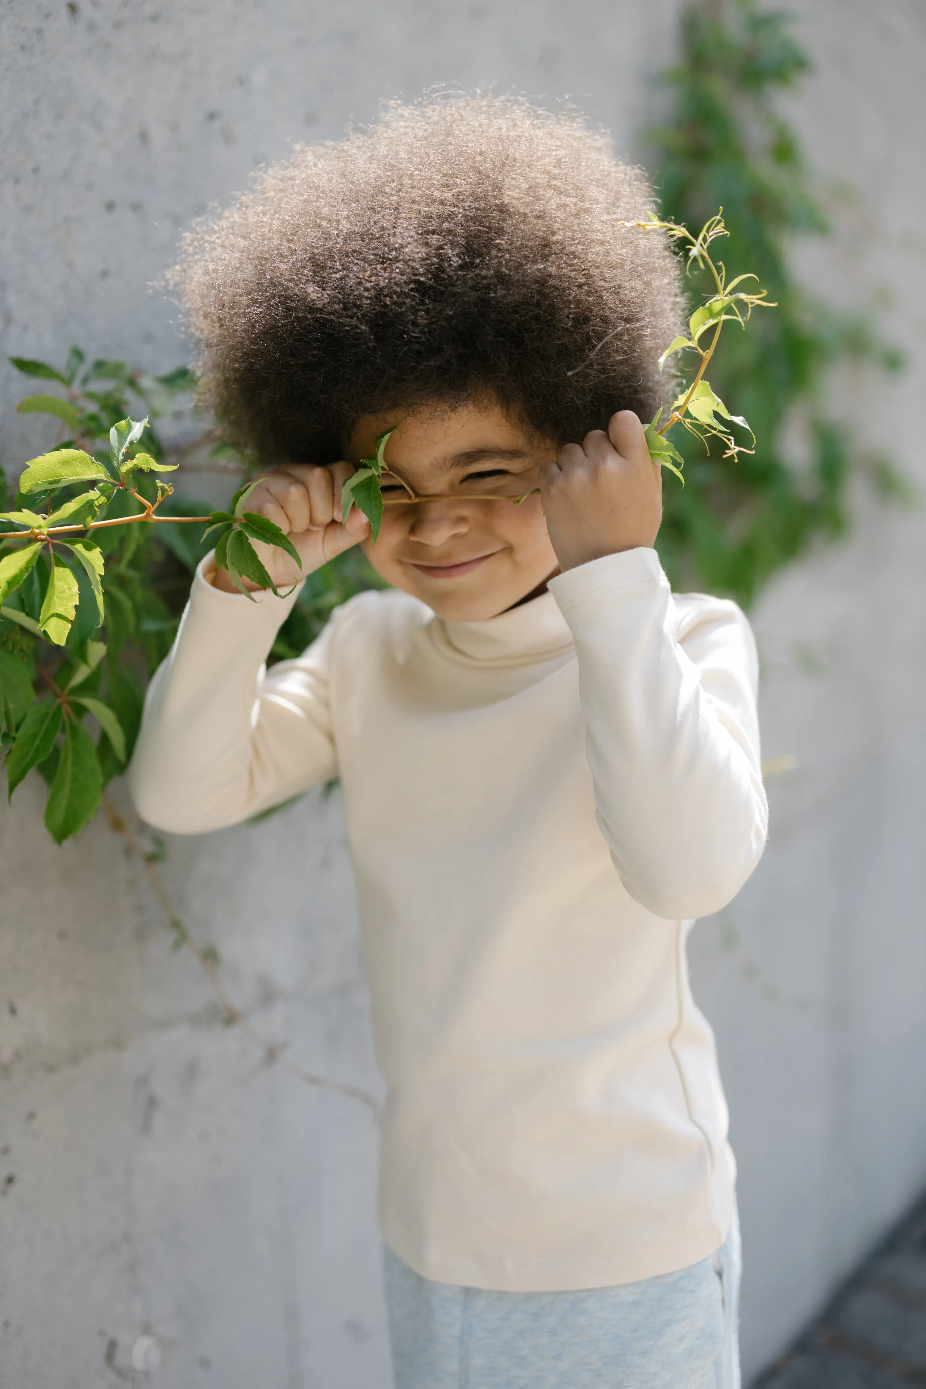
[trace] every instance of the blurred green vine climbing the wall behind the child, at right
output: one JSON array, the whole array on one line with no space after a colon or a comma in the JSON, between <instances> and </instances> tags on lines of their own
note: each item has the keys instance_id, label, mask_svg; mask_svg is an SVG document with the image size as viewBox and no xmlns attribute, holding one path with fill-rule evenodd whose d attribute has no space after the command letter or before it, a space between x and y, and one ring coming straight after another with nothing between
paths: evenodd
<instances>
[{"instance_id":1,"label":"blurred green vine climbing the wall behind the child, at right","mask_svg":"<svg viewBox=\"0 0 926 1389\"><path fill-rule=\"evenodd\" d=\"M798 140L775 106L811 65L789 24L755 0L689 3L680 60L666 74L672 108L651 132L665 213L700 225L721 206L727 271L757 272L777 304L754 332L725 339L711 368L719 393L748 417L755 451L721 456L683 439L687 485L666 489L657 542L676 588L747 604L815 538L844 532L852 471L866 471L882 494L908 494L891 460L859 450L851 424L826 399L848 363L895 369L898 354L873 333L870 313L834 311L790 268L794 240L826 236L829 224ZM705 268L693 265L691 282L711 289Z\"/></svg>"}]
</instances>

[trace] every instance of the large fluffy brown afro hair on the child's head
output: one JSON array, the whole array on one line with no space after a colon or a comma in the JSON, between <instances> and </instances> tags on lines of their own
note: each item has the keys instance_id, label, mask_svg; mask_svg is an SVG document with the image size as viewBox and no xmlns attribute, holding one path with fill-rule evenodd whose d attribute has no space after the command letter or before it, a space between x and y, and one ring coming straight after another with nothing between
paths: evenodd
<instances>
[{"instance_id":1,"label":"large fluffy brown afro hair on the child's head","mask_svg":"<svg viewBox=\"0 0 926 1389\"><path fill-rule=\"evenodd\" d=\"M491 393L564 443L672 382L679 261L644 175L572 111L393 103L297 147L187 235L201 393L262 464L330 463L361 415Z\"/></svg>"}]
</instances>

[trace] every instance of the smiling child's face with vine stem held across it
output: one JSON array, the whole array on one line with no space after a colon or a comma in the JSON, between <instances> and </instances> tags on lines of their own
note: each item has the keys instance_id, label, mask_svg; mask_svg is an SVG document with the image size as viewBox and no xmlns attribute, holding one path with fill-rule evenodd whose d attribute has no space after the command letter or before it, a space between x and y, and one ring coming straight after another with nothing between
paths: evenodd
<instances>
[{"instance_id":1,"label":"smiling child's face with vine stem held across it","mask_svg":"<svg viewBox=\"0 0 926 1389\"><path fill-rule=\"evenodd\" d=\"M387 583L422 599L451 622L504 613L558 569L540 497L518 497L537 485L540 465L558 446L532 435L493 401L458 408L421 406L358 421L346 457L358 463L376 436L394 428L386 465L415 496L440 500L387 504L376 544L364 542ZM383 496L404 489L383 479ZM503 493L483 501L478 493Z\"/></svg>"}]
</instances>

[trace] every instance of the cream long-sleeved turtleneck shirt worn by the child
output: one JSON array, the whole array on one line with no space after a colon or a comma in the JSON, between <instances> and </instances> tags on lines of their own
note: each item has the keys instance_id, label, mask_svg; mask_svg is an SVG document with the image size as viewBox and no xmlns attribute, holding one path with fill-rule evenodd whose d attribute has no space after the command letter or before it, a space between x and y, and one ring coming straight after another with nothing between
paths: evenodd
<instances>
[{"instance_id":1,"label":"cream long-sleeved turtleneck shirt worn by the child","mask_svg":"<svg viewBox=\"0 0 926 1389\"><path fill-rule=\"evenodd\" d=\"M211 563L149 690L135 801L197 833L340 776L386 1243L511 1290L705 1258L734 1165L684 938L766 833L740 610L673 597L639 549L486 622L364 593L267 671L294 596L217 590Z\"/></svg>"}]
</instances>

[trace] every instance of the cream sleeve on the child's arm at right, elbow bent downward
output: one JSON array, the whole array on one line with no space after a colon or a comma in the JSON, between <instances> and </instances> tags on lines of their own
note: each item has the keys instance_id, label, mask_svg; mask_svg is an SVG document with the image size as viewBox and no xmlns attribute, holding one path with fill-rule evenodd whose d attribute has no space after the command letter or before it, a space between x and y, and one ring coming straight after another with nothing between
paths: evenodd
<instances>
[{"instance_id":1,"label":"cream sleeve on the child's arm at right, elbow bent downward","mask_svg":"<svg viewBox=\"0 0 926 1389\"><path fill-rule=\"evenodd\" d=\"M550 590L575 639L598 825L625 888L658 917L719 911L768 829L746 617L701 594L676 604L648 549Z\"/></svg>"}]
</instances>

